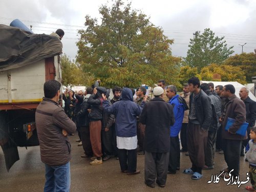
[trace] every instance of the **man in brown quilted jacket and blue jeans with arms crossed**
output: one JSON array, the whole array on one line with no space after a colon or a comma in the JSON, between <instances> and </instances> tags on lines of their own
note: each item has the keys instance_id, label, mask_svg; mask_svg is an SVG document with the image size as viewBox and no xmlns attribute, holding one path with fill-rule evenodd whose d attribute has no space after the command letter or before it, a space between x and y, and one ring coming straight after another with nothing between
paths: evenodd
<instances>
[{"instance_id":1,"label":"man in brown quilted jacket and blue jeans with arms crossed","mask_svg":"<svg viewBox=\"0 0 256 192\"><path fill-rule=\"evenodd\" d=\"M71 145L67 134L75 132L76 125L58 104L60 87L56 80L45 82L45 97L35 113L41 161L46 167L44 191L70 190Z\"/></svg>"}]
</instances>

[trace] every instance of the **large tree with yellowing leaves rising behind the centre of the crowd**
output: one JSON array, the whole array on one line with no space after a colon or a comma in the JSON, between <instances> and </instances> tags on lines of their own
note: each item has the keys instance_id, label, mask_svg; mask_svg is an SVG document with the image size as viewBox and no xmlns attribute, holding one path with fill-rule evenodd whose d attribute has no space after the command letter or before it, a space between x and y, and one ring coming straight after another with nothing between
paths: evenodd
<instances>
[{"instance_id":1,"label":"large tree with yellowing leaves rising behind the centre of the crowd","mask_svg":"<svg viewBox=\"0 0 256 192\"><path fill-rule=\"evenodd\" d=\"M85 72L101 79L103 86L150 86L164 78L178 83L175 76L180 58L173 57L173 40L150 23L131 4L117 0L112 7L99 8L101 22L86 16L86 30L79 30L77 42L79 62Z\"/></svg>"}]
</instances>

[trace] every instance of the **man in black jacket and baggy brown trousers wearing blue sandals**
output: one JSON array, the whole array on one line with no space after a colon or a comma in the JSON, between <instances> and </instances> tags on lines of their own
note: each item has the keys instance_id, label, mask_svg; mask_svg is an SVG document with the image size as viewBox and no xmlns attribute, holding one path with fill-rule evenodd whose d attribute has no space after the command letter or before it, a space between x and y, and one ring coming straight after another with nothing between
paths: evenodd
<instances>
[{"instance_id":1,"label":"man in black jacket and baggy brown trousers wearing blue sandals","mask_svg":"<svg viewBox=\"0 0 256 192\"><path fill-rule=\"evenodd\" d=\"M184 169L184 174L193 174L191 179L202 178L204 152L207 143L208 129L211 124L212 110L210 98L200 89L197 77L188 79L191 92L189 98L189 115L187 129L187 147L192 167Z\"/></svg>"}]
</instances>

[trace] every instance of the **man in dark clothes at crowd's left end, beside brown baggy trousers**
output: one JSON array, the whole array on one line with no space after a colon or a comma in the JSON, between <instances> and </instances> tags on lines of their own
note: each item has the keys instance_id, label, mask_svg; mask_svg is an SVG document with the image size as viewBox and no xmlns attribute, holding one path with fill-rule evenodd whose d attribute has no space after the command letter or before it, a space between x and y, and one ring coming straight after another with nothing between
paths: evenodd
<instances>
[{"instance_id":1,"label":"man in dark clothes at crowd's left end, beside brown baggy trousers","mask_svg":"<svg viewBox=\"0 0 256 192\"><path fill-rule=\"evenodd\" d=\"M92 157L93 151L92 151L92 145L90 141L90 119L88 117L89 115L89 109L91 109L90 104L88 103L88 98L93 94L93 89L91 87L88 87L86 89L86 92L84 92L84 100L81 104L81 110L77 113L77 119L80 122L80 133L81 133L81 142L84 150L84 155L81 155L81 157Z\"/></svg>"}]
</instances>

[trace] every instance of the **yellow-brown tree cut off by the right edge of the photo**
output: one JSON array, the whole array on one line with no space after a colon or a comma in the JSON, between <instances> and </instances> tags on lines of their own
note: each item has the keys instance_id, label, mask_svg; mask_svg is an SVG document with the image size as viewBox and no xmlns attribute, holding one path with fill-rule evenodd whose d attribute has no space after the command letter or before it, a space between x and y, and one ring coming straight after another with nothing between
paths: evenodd
<instances>
[{"instance_id":1,"label":"yellow-brown tree cut off by the right edge of the photo","mask_svg":"<svg viewBox=\"0 0 256 192\"><path fill-rule=\"evenodd\" d=\"M251 82L251 77L256 76L256 53L242 53L229 57L225 65L239 66L246 76L247 83Z\"/></svg>"}]
</instances>

